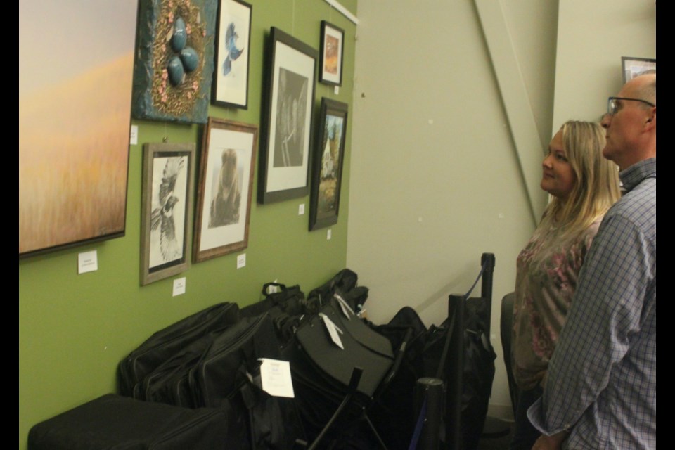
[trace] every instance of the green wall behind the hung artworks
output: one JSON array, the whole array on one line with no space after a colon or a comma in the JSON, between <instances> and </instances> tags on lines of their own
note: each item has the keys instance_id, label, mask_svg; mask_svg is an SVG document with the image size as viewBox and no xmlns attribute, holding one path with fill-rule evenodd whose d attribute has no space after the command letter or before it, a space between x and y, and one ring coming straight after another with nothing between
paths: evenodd
<instances>
[{"instance_id":1,"label":"green wall behind the hung artworks","mask_svg":"<svg viewBox=\"0 0 675 450\"><path fill-rule=\"evenodd\" d=\"M319 49L321 20L345 30L340 92L316 84L316 109L326 96L352 104L356 25L322 0L248 0L253 5L248 110L210 108L212 117L260 124L264 44L274 26ZM357 0L342 0L356 14ZM131 74L129 74L131 76ZM203 126L136 121L139 145L131 146L126 236L19 261L19 448L41 420L107 392L115 392L117 363L151 333L216 302L240 305L259 300L262 285L278 279L305 293L345 267L352 115L338 224L307 231L309 196L270 205L255 203L249 245L243 252L191 264L178 276L141 287L142 144L195 142L200 154ZM257 161L256 161L257 162ZM254 186L257 186L257 164ZM257 187L255 188L257 191ZM304 203L306 213L297 214ZM76 217L73 218L77 220ZM77 254L98 251L98 271L77 274ZM236 269L236 257L246 266ZM172 297L174 278L186 277L186 293Z\"/></svg>"}]
</instances>

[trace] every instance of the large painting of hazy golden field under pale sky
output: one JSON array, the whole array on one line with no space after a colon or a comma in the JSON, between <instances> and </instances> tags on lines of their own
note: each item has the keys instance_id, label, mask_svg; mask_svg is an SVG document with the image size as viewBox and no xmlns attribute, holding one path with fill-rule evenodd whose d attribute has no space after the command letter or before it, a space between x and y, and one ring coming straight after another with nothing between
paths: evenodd
<instances>
[{"instance_id":1,"label":"large painting of hazy golden field under pale sky","mask_svg":"<svg viewBox=\"0 0 675 450\"><path fill-rule=\"evenodd\" d=\"M137 8L19 3L19 258L124 236Z\"/></svg>"}]
</instances>

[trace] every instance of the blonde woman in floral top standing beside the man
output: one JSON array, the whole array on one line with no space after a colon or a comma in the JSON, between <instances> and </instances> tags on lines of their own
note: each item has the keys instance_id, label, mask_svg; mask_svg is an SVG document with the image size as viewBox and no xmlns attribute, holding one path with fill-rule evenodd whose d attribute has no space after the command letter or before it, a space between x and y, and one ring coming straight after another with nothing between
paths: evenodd
<instances>
[{"instance_id":1,"label":"blonde woman in floral top standing beside the man","mask_svg":"<svg viewBox=\"0 0 675 450\"><path fill-rule=\"evenodd\" d=\"M604 147L600 124L566 122L542 164L541 188L551 203L517 262L511 363L518 401L511 450L532 449L539 436L527 409L541 396L584 257L620 196L617 167L603 158Z\"/></svg>"}]
</instances>

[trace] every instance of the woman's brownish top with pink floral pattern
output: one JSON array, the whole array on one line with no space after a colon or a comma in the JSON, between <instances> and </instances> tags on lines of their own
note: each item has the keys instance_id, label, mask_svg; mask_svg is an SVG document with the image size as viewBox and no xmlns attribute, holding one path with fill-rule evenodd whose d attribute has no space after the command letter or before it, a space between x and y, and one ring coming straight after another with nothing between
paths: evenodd
<instances>
[{"instance_id":1,"label":"woman's brownish top with pink floral pattern","mask_svg":"<svg viewBox=\"0 0 675 450\"><path fill-rule=\"evenodd\" d=\"M565 239L559 229L536 229L518 255L511 362L522 390L533 389L546 374L600 221L602 217L586 231Z\"/></svg>"}]
</instances>

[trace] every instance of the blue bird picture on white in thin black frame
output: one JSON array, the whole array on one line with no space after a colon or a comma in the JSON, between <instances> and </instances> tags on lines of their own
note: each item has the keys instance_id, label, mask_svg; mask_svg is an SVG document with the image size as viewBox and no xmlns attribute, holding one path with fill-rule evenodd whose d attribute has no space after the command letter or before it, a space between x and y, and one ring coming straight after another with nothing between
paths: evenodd
<instances>
[{"instance_id":1,"label":"blue bird picture on white in thin black frame","mask_svg":"<svg viewBox=\"0 0 675 450\"><path fill-rule=\"evenodd\" d=\"M220 0L216 26L216 67L211 103L248 109L248 61L253 6L241 0Z\"/></svg>"}]
</instances>

